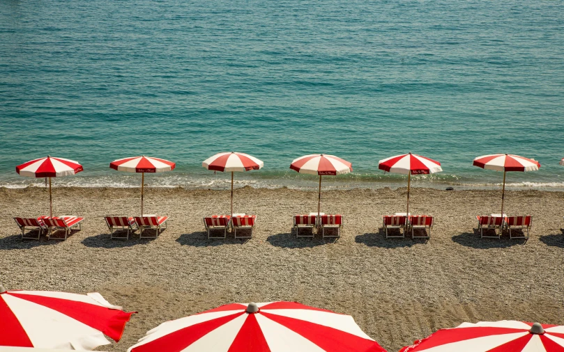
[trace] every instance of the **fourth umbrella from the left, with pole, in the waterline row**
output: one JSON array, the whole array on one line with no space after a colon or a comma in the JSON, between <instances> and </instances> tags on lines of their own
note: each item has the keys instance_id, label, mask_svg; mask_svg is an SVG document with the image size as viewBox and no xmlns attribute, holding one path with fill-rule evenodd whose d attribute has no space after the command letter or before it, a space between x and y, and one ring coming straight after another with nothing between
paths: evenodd
<instances>
[{"instance_id":1,"label":"fourth umbrella from the left, with pole, in the waterline row","mask_svg":"<svg viewBox=\"0 0 564 352\"><path fill-rule=\"evenodd\" d=\"M310 154L294 159L290 164L290 168L298 171L298 173L319 175L319 197L317 200L317 218L319 218L321 213L321 176L350 173L353 170L353 164L344 159L337 158L335 155ZM317 223L319 224L319 221Z\"/></svg>"}]
</instances>

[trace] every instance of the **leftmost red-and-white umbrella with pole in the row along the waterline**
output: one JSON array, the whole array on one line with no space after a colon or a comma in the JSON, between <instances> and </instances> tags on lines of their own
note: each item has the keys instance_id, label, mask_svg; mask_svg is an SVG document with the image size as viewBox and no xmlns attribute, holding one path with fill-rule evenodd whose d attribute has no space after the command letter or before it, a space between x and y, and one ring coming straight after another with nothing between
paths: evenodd
<instances>
[{"instance_id":1,"label":"leftmost red-and-white umbrella with pole in the row along the waterline","mask_svg":"<svg viewBox=\"0 0 564 352\"><path fill-rule=\"evenodd\" d=\"M16 166L15 171L19 173L20 176L27 177L49 177L49 216L53 217L53 199L51 195L51 177L61 177L68 175L75 175L82 171L82 165L77 161L63 159L63 158L52 158L47 155L46 158L40 158L22 163L20 166Z\"/></svg>"}]
</instances>

